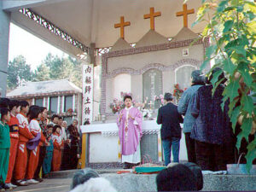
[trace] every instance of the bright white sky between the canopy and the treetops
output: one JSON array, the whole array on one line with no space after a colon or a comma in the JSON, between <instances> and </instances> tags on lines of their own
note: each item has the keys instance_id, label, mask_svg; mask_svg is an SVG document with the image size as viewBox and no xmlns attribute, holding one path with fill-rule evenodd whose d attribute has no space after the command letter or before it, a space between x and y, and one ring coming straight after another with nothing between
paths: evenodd
<instances>
[{"instance_id":1,"label":"bright white sky between the canopy and the treetops","mask_svg":"<svg viewBox=\"0 0 256 192\"><path fill-rule=\"evenodd\" d=\"M26 63L34 70L48 53L59 56L67 55L61 49L55 48L51 44L11 23L9 32L9 61L12 61L15 56L23 55L26 58Z\"/></svg>"}]
</instances>

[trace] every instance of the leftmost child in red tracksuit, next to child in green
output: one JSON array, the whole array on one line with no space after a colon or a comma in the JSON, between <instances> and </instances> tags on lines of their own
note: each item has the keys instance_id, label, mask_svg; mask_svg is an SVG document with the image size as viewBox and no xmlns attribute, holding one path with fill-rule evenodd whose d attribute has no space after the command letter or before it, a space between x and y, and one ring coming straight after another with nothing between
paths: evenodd
<instances>
[{"instance_id":1,"label":"leftmost child in red tracksuit, next to child in green","mask_svg":"<svg viewBox=\"0 0 256 192\"><path fill-rule=\"evenodd\" d=\"M10 148L9 148L9 167L8 174L6 177L6 185L9 188L16 188L17 185L12 184L11 180L13 178L13 171L15 168L16 154L19 143L19 120L16 118L16 115L20 113L20 102L17 100L11 100L9 102L9 110L11 118L8 122L9 125L9 136L10 136Z\"/></svg>"}]
</instances>

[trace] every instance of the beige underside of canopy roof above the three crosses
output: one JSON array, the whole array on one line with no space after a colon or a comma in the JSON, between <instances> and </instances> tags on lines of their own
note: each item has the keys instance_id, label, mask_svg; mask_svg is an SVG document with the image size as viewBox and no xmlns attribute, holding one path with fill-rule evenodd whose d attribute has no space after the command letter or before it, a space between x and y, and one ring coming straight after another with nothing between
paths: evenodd
<instances>
[{"instance_id":1,"label":"beige underside of canopy roof above the three crosses","mask_svg":"<svg viewBox=\"0 0 256 192\"><path fill-rule=\"evenodd\" d=\"M195 9L195 14L188 15L191 29L201 0L190 0L187 4L188 9ZM151 7L154 7L154 12L161 12L154 18L155 31L168 38L176 36L183 28L183 16L176 16L183 10L183 0L3 0L3 9L11 12L15 24L73 55L81 54L81 51L18 10L32 9L85 46L95 43L96 48L103 48L113 46L119 39L120 29L114 28L114 24L120 22L120 16L131 22L131 26L125 26L128 43L137 43L143 38L150 29L150 20L144 19L143 15L149 14ZM203 26L200 24L191 30L199 33Z\"/></svg>"}]
</instances>

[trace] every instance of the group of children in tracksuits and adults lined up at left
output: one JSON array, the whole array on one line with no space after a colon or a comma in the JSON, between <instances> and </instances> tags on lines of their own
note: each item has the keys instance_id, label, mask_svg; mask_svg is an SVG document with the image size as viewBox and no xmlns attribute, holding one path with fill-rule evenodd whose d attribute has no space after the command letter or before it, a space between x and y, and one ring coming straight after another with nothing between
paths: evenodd
<instances>
[{"instance_id":1,"label":"group of children in tracksuits and adults lined up at left","mask_svg":"<svg viewBox=\"0 0 256 192\"><path fill-rule=\"evenodd\" d=\"M49 172L76 169L79 120L71 125L47 108L0 98L0 190L43 181Z\"/></svg>"}]
</instances>

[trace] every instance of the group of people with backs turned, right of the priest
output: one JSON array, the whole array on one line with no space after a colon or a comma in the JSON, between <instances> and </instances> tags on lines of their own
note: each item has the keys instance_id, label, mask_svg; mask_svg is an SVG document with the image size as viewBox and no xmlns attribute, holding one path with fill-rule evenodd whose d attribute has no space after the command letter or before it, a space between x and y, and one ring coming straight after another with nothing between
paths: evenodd
<instances>
[{"instance_id":1,"label":"group of people with backs turned, right of the priest","mask_svg":"<svg viewBox=\"0 0 256 192\"><path fill-rule=\"evenodd\" d=\"M214 73L218 74L219 84L212 91ZM236 163L238 156L247 152L245 139L241 141L241 148L236 149L240 125L236 125L233 132L228 114L230 102L227 100L222 104L226 80L218 67L208 78L200 70L195 70L191 73L191 86L183 92L177 106L172 103L172 94L165 94L166 105L159 109L157 123L162 125L166 166L171 162L171 150L173 161L179 162L180 123L183 123L188 160L201 166L202 170L225 171L227 164ZM250 141L254 132L251 134ZM246 163L244 157L241 163Z\"/></svg>"}]
</instances>

